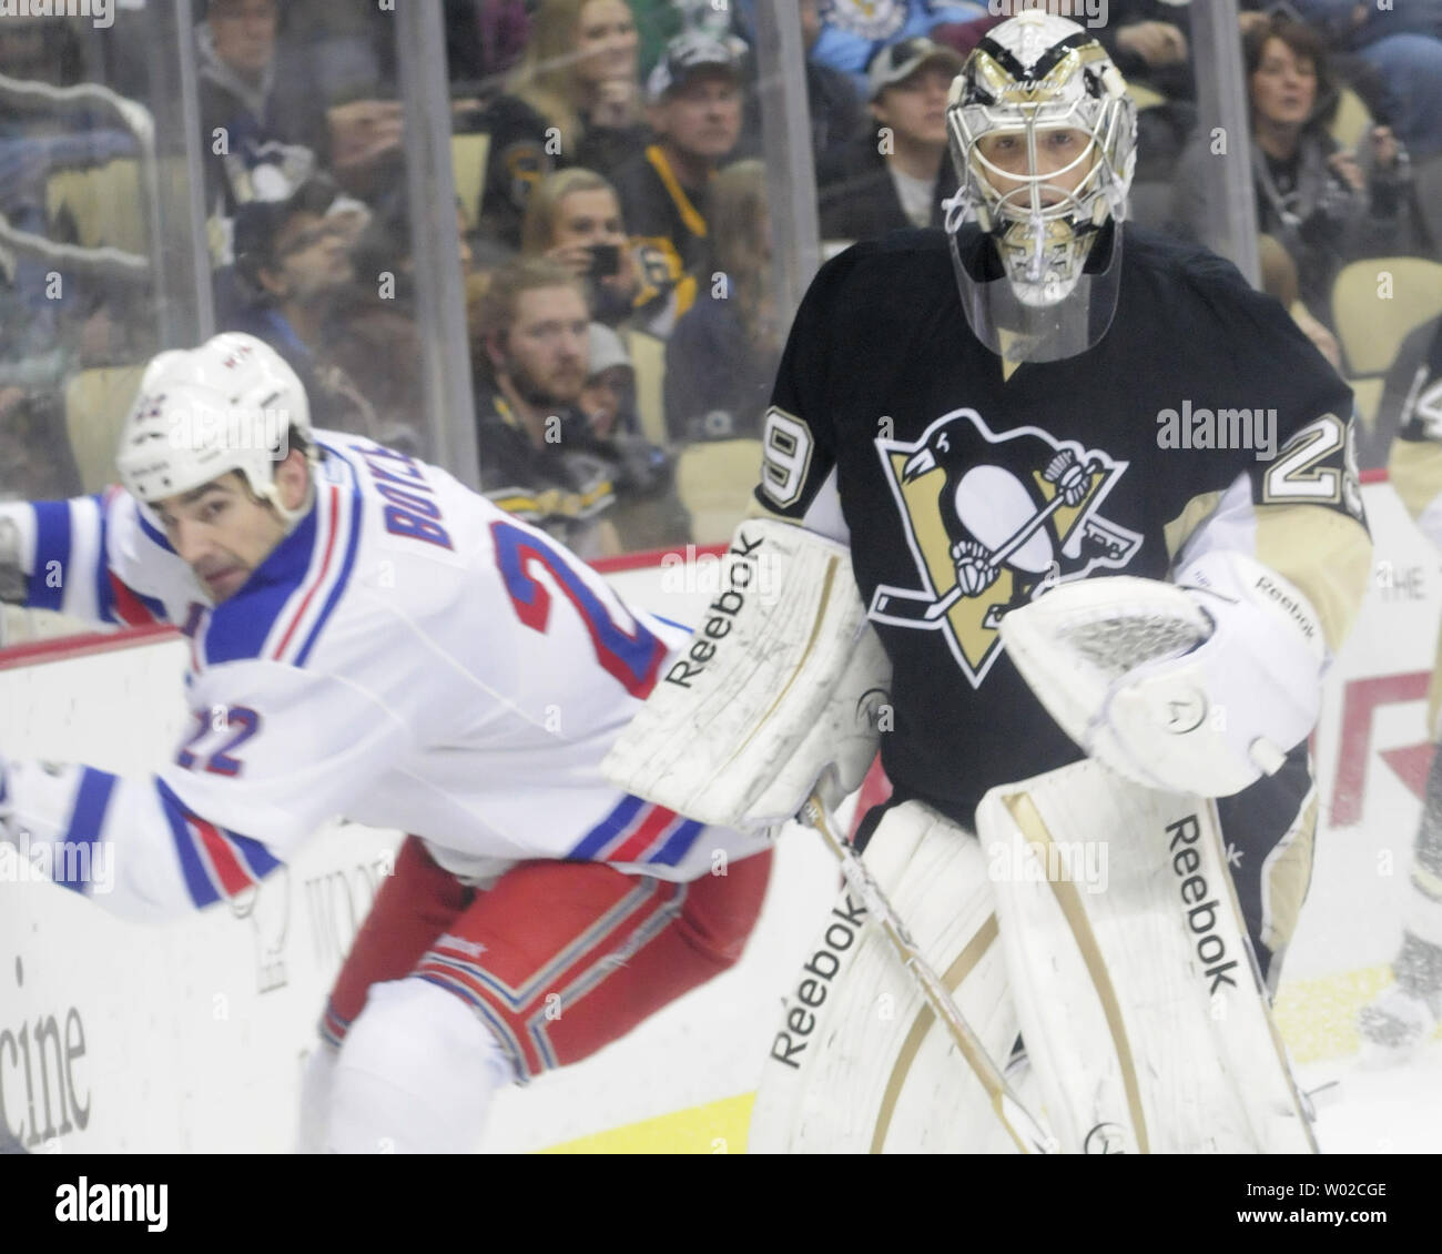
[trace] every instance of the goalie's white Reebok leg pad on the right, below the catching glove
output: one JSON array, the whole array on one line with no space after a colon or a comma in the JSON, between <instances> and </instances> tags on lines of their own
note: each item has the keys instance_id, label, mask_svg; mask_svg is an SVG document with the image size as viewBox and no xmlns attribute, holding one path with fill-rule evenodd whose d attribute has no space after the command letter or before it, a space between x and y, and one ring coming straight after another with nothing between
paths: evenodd
<instances>
[{"instance_id":1,"label":"goalie's white Reebok leg pad on the right, below the catching glove","mask_svg":"<svg viewBox=\"0 0 1442 1254\"><path fill-rule=\"evenodd\" d=\"M1211 802L1080 762L976 820L1063 1153L1315 1153Z\"/></svg>"}]
</instances>

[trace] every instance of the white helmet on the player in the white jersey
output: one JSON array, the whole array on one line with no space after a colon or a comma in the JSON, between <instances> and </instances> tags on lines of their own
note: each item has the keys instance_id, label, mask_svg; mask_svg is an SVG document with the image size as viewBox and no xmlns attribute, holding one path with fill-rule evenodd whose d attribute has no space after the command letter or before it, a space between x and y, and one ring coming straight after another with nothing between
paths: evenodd
<instances>
[{"instance_id":1,"label":"white helmet on the player in the white jersey","mask_svg":"<svg viewBox=\"0 0 1442 1254\"><path fill-rule=\"evenodd\" d=\"M286 509L275 488L291 431L314 457L300 377L264 341L226 332L151 359L115 463L121 482L147 508L238 470L252 495L294 525L309 504Z\"/></svg>"}]
</instances>

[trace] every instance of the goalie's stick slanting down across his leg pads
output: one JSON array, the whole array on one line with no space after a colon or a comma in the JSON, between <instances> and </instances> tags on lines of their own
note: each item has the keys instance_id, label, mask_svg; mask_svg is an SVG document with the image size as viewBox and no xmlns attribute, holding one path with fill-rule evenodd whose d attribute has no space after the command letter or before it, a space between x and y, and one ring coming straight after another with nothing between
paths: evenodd
<instances>
[{"instance_id":1,"label":"goalie's stick slanting down across his leg pads","mask_svg":"<svg viewBox=\"0 0 1442 1254\"><path fill-rule=\"evenodd\" d=\"M946 1025L947 1033L956 1042L956 1048L972 1068L978 1081L981 1081L982 1088L991 1098L996 1118L1001 1120L1011 1139L1017 1143L1017 1149L1024 1154L1056 1153L1058 1149L1057 1139L1043 1128L1031 1111L1021 1104L1011 1085L1007 1084L1001 1068L996 1066L985 1046L978 1040L976 1033L970 1029L966 1019L962 1017L962 1012L956 1009L950 993L946 991L936 971L932 970L930 964L917 950L916 941L911 939L906 924L891 909L891 903L887 900L885 893L883 893L881 885L877 883L867 864L857 856L851 843L836 836L833 821L816 792L810 795L797 817L808 827L815 828L826 843L826 849L836 856L846 883L855 889L857 895L865 903L867 911L881 925L881 931L891 942L903 965L916 977L937 1022Z\"/></svg>"}]
</instances>

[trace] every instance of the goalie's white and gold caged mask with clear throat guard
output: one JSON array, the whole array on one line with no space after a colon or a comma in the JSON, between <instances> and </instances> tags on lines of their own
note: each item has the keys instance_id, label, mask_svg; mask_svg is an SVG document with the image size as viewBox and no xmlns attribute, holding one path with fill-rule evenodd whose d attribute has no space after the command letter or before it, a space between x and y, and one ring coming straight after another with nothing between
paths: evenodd
<instances>
[{"instance_id":1,"label":"goalie's white and gold caged mask with clear throat guard","mask_svg":"<svg viewBox=\"0 0 1442 1254\"><path fill-rule=\"evenodd\" d=\"M1122 75L1092 33L1031 10L976 46L946 117L960 182L946 229L972 330L1009 361L1086 352L1116 313L1136 165Z\"/></svg>"}]
</instances>

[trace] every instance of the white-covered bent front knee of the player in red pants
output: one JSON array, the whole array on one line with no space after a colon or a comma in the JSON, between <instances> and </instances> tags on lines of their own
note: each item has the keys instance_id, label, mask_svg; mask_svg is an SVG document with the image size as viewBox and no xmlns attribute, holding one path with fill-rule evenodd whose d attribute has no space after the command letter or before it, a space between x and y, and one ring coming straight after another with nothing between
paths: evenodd
<instances>
[{"instance_id":1,"label":"white-covered bent front knee of the player in red pants","mask_svg":"<svg viewBox=\"0 0 1442 1254\"><path fill-rule=\"evenodd\" d=\"M474 1152L512 1078L500 1043L453 993L415 977L375 984L336 1061L326 1149Z\"/></svg>"}]
</instances>

